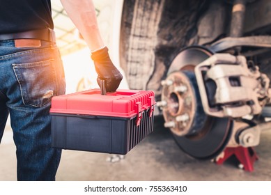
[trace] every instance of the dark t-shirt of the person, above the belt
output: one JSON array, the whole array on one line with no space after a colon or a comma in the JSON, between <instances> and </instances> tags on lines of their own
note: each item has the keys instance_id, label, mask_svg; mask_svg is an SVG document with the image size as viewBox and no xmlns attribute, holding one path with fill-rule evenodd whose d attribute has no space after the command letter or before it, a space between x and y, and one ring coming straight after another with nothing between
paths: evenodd
<instances>
[{"instance_id":1,"label":"dark t-shirt of the person, above the belt","mask_svg":"<svg viewBox=\"0 0 271 195\"><path fill-rule=\"evenodd\" d=\"M0 0L0 33L54 28L50 0Z\"/></svg>"}]
</instances>

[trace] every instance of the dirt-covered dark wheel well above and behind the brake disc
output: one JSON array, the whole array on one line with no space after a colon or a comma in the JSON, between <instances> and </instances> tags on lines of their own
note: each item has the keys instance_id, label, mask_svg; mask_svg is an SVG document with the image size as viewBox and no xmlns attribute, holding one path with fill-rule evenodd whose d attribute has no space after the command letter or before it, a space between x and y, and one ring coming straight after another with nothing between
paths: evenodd
<instances>
[{"instance_id":1,"label":"dirt-covered dark wheel well above and behind the brake disc","mask_svg":"<svg viewBox=\"0 0 271 195\"><path fill-rule=\"evenodd\" d=\"M251 19L255 6L264 8L265 15L271 15L271 11L266 11L266 2L249 1L247 18ZM271 7L271 3L268 5L268 8ZM120 59L130 88L152 90L159 100L162 89L160 81L165 79L175 56L184 47L208 47L210 43L228 36L231 9L232 3L228 0L125 0ZM257 21L263 19L258 15L255 17ZM265 28L259 24L254 24L254 27L267 29L265 23L262 24ZM249 24L247 20L245 24ZM248 33L246 25L246 36L257 32L250 28Z\"/></svg>"}]
</instances>

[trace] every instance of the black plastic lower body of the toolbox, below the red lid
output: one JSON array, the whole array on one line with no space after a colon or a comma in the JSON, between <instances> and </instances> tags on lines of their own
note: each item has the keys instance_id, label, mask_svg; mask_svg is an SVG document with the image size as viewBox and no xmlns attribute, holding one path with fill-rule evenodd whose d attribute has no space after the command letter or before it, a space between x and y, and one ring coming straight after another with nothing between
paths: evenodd
<instances>
[{"instance_id":1,"label":"black plastic lower body of the toolbox, below the red lid","mask_svg":"<svg viewBox=\"0 0 271 195\"><path fill-rule=\"evenodd\" d=\"M125 155L150 132L153 116L136 118L52 114L52 147Z\"/></svg>"}]
</instances>

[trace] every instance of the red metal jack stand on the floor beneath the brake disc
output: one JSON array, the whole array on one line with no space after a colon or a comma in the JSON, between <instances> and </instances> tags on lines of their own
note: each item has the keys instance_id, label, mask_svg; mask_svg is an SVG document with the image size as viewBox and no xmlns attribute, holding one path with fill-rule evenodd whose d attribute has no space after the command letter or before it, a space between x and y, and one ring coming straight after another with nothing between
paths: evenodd
<instances>
[{"instance_id":1,"label":"red metal jack stand on the floor beneath the brake disc","mask_svg":"<svg viewBox=\"0 0 271 195\"><path fill-rule=\"evenodd\" d=\"M234 147L234 148L226 148L224 150L224 157L217 160L217 164L223 164L223 162L226 161L226 159L229 159L232 155L235 155L235 157L240 162L240 168L244 169L245 171L252 172L254 171L253 164L258 159L258 156L256 155L256 151L252 147Z\"/></svg>"}]
</instances>

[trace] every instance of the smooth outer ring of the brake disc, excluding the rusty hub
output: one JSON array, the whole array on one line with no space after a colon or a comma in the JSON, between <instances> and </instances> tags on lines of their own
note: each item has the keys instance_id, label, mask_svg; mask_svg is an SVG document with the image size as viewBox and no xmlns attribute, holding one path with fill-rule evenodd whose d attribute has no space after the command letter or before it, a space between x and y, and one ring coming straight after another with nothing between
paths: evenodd
<instances>
[{"instance_id":1,"label":"smooth outer ring of the brake disc, excluding the rusty hub","mask_svg":"<svg viewBox=\"0 0 271 195\"><path fill-rule=\"evenodd\" d=\"M211 55L212 52L203 47L187 47L173 59L168 76L176 71L194 72L195 65ZM196 134L185 136L180 136L172 130L171 132L180 149L187 155L196 159L212 159L219 155L229 142L232 122L229 118L207 116L205 123L199 128Z\"/></svg>"}]
</instances>

